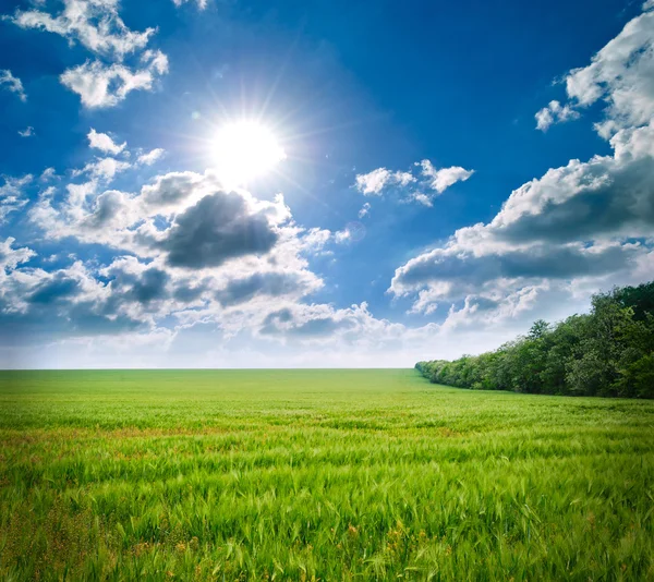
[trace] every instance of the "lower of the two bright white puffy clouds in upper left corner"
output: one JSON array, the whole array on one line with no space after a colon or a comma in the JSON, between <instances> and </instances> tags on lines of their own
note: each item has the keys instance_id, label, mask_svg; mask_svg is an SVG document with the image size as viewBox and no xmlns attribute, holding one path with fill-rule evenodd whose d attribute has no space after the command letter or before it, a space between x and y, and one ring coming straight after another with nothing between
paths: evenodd
<instances>
[{"instance_id":1,"label":"lower of the two bright white puffy clouds in upper left corner","mask_svg":"<svg viewBox=\"0 0 654 582\"><path fill-rule=\"evenodd\" d=\"M133 90L150 90L157 77L168 72L168 58L160 51L145 51L141 61L143 68L133 70L86 61L64 71L60 80L89 109L113 107Z\"/></svg>"}]
</instances>

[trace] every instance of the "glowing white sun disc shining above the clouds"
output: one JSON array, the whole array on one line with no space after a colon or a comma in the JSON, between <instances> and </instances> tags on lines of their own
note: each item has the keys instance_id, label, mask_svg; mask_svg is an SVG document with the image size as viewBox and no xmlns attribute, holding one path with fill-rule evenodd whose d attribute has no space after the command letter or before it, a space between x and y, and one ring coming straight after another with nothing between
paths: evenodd
<instances>
[{"instance_id":1,"label":"glowing white sun disc shining above the clouds","mask_svg":"<svg viewBox=\"0 0 654 582\"><path fill-rule=\"evenodd\" d=\"M286 159L272 132L253 120L222 125L211 142L211 157L227 186L242 186Z\"/></svg>"}]
</instances>

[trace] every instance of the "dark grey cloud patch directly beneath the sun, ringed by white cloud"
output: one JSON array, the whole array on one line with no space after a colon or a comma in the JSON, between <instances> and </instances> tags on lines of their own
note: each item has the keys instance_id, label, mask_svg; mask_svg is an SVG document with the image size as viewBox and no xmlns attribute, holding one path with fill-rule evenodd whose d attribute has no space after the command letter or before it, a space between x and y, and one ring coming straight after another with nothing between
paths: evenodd
<instances>
[{"instance_id":1,"label":"dark grey cloud patch directly beneath the sun, ringed by white cloud","mask_svg":"<svg viewBox=\"0 0 654 582\"><path fill-rule=\"evenodd\" d=\"M265 215L250 214L240 194L219 192L178 216L158 246L168 252L169 265L201 269L239 256L265 254L277 240Z\"/></svg>"}]
</instances>

